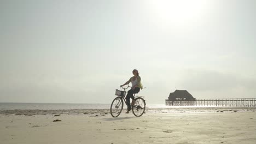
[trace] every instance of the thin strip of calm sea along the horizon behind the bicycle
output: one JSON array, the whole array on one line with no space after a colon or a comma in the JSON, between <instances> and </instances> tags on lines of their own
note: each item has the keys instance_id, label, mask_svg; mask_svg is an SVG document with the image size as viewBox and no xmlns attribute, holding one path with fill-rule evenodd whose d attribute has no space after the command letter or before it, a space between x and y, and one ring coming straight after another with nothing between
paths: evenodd
<instances>
[{"instance_id":1,"label":"thin strip of calm sea along the horizon behind the bicycle","mask_svg":"<svg viewBox=\"0 0 256 144\"><path fill-rule=\"evenodd\" d=\"M148 108L165 109L171 106L148 104ZM110 109L110 104L74 104L74 103L0 103L0 110L77 110Z\"/></svg>"}]
</instances>

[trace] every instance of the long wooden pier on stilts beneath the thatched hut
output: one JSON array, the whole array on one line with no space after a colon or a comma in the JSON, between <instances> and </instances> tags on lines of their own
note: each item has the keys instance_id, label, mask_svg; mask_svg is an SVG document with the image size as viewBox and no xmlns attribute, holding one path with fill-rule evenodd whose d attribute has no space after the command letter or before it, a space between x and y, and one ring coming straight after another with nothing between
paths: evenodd
<instances>
[{"instance_id":1,"label":"long wooden pier on stilts beneath the thatched hut","mask_svg":"<svg viewBox=\"0 0 256 144\"><path fill-rule=\"evenodd\" d=\"M228 106L228 107L256 107L256 99L195 99L195 101L165 100L165 105L173 106Z\"/></svg>"}]
</instances>

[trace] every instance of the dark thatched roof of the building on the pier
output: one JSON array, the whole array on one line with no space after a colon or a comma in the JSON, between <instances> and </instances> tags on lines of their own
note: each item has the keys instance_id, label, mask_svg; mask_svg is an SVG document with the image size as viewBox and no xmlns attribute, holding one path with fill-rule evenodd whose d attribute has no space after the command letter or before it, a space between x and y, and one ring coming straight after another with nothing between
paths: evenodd
<instances>
[{"instance_id":1,"label":"dark thatched roof of the building on the pier","mask_svg":"<svg viewBox=\"0 0 256 144\"><path fill-rule=\"evenodd\" d=\"M195 98L186 90L176 90L173 93L170 93L168 100L195 101Z\"/></svg>"}]
</instances>

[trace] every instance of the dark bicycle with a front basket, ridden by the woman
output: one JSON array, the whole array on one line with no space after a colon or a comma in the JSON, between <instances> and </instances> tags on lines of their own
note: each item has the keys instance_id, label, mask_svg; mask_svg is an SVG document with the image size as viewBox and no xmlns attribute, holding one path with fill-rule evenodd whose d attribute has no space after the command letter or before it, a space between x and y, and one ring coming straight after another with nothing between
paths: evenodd
<instances>
[{"instance_id":1,"label":"dark bicycle with a front basket, ridden by the woman","mask_svg":"<svg viewBox=\"0 0 256 144\"><path fill-rule=\"evenodd\" d=\"M124 101L125 104L126 103L126 99L125 99L125 95L126 95L126 89L129 88L130 86L124 88L124 91L120 91L118 89L115 89L115 95L117 95L118 97L114 98L114 100L112 101L112 104L110 106L110 113L112 117L118 117L120 115L120 113L123 110L124 107ZM135 104L131 106L132 109L132 113L133 115L135 115L136 117L140 117L143 115L145 109L146 109L146 100L144 100L144 97L142 96L136 96L135 94L133 94L133 97L135 98Z\"/></svg>"}]
</instances>

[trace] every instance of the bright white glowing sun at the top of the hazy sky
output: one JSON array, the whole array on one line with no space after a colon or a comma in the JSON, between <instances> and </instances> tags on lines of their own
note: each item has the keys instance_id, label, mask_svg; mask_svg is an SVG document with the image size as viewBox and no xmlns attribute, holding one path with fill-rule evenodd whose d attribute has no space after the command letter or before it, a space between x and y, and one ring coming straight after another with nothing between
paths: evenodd
<instances>
[{"instance_id":1,"label":"bright white glowing sun at the top of the hazy sky","mask_svg":"<svg viewBox=\"0 0 256 144\"><path fill-rule=\"evenodd\" d=\"M165 22L186 23L199 19L208 8L205 0L147 1L154 14Z\"/></svg>"}]
</instances>

